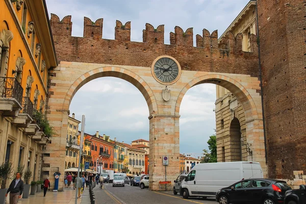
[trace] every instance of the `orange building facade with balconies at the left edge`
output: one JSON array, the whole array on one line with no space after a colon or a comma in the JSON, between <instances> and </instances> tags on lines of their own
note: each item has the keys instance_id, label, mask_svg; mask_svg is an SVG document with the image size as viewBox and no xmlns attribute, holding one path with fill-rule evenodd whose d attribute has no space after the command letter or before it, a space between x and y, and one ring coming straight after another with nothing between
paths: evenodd
<instances>
[{"instance_id":1,"label":"orange building facade with balconies at the left edge","mask_svg":"<svg viewBox=\"0 0 306 204\"><path fill-rule=\"evenodd\" d=\"M42 154L52 134L42 119L57 66L48 14L44 0L2 0L0 10L0 164L29 168L38 181L49 170Z\"/></svg>"}]
</instances>

